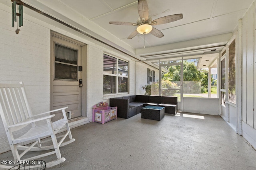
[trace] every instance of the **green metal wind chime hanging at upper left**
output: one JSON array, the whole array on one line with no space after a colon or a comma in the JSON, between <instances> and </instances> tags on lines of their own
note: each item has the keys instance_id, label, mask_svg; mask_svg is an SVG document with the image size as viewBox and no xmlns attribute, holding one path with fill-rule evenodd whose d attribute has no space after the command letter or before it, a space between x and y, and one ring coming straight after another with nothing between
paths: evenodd
<instances>
[{"instance_id":1,"label":"green metal wind chime hanging at upper left","mask_svg":"<svg viewBox=\"0 0 256 170\"><path fill-rule=\"evenodd\" d=\"M20 29L18 29L18 24L19 27L23 26L23 5L24 3L21 2L20 0L11 0L12 1L12 27L14 27L14 21L17 21L17 16L18 16L18 23L17 23L17 29L16 29L16 34L19 34Z\"/></svg>"}]
</instances>

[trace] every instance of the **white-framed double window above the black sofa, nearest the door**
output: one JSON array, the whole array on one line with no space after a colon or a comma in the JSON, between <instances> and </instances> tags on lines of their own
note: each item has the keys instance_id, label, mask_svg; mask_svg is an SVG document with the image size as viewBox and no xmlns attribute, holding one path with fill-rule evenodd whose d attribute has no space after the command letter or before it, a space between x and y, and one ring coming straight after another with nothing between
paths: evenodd
<instances>
[{"instance_id":1,"label":"white-framed double window above the black sofa, nearest the door","mask_svg":"<svg viewBox=\"0 0 256 170\"><path fill-rule=\"evenodd\" d=\"M104 54L103 94L128 92L128 62Z\"/></svg>"}]
</instances>

